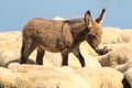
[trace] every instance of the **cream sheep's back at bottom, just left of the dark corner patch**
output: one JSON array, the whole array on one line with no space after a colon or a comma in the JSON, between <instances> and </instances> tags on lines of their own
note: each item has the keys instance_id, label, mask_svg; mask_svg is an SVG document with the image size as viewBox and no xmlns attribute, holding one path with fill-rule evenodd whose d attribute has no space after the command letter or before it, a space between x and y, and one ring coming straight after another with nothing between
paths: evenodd
<instances>
[{"instance_id":1,"label":"cream sheep's back at bottom, just left of the dark corner patch","mask_svg":"<svg viewBox=\"0 0 132 88\"><path fill-rule=\"evenodd\" d=\"M84 67L75 73L85 78L91 88L123 88L123 74L110 67Z\"/></svg>"}]
</instances>

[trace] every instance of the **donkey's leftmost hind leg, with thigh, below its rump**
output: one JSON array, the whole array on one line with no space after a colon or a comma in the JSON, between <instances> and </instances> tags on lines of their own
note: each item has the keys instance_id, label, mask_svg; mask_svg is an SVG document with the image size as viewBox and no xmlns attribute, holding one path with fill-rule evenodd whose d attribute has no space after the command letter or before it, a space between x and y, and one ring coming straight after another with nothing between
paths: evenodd
<instances>
[{"instance_id":1,"label":"donkey's leftmost hind leg, with thigh, below its rump","mask_svg":"<svg viewBox=\"0 0 132 88\"><path fill-rule=\"evenodd\" d=\"M21 62L20 64L25 64L30 54L35 50L35 46L29 42L29 43L24 43L22 44L22 48L21 48Z\"/></svg>"}]
</instances>

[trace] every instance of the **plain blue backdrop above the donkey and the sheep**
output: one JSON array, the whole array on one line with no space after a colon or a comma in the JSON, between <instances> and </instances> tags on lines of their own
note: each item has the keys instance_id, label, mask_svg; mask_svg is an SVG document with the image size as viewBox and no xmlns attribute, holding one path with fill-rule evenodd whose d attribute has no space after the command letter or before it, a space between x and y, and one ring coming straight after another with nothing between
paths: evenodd
<instances>
[{"instance_id":1,"label":"plain blue backdrop above the donkey and the sheep","mask_svg":"<svg viewBox=\"0 0 132 88\"><path fill-rule=\"evenodd\" d=\"M94 18L106 8L102 26L132 28L131 0L0 0L0 32L21 31L32 18L81 16L90 10Z\"/></svg>"}]
</instances>

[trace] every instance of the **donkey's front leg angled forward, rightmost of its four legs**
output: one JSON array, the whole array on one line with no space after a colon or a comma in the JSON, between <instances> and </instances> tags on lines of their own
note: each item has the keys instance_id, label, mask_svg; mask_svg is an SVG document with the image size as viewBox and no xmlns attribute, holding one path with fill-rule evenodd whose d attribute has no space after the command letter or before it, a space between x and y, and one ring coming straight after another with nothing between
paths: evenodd
<instances>
[{"instance_id":1,"label":"donkey's front leg angled forward, rightmost of its four legs","mask_svg":"<svg viewBox=\"0 0 132 88\"><path fill-rule=\"evenodd\" d=\"M85 67L86 66L86 63L85 63L85 59L82 57L82 55L80 54L80 50L79 47L77 47L73 54L79 59L79 63L81 64L81 67Z\"/></svg>"}]
</instances>

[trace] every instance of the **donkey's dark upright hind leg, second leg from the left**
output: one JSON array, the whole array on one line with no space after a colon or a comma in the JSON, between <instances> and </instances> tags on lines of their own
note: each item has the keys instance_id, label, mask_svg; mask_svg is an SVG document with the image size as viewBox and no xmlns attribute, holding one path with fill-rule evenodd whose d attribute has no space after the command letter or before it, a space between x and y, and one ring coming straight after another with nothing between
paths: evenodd
<instances>
[{"instance_id":1,"label":"donkey's dark upright hind leg, second leg from the left","mask_svg":"<svg viewBox=\"0 0 132 88\"><path fill-rule=\"evenodd\" d=\"M43 65L43 57L44 57L45 51L41 47L37 47L37 55L36 55L36 64Z\"/></svg>"}]
</instances>

